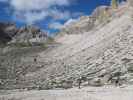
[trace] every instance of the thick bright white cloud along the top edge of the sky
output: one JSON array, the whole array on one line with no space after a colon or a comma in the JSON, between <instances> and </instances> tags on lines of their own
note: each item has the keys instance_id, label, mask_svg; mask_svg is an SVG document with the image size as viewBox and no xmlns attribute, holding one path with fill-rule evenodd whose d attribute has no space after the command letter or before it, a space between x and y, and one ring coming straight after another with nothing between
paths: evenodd
<instances>
[{"instance_id":1,"label":"thick bright white cloud along the top edge of the sky","mask_svg":"<svg viewBox=\"0 0 133 100\"><path fill-rule=\"evenodd\" d=\"M42 10L51 6L69 5L69 0L10 0L15 10Z\"/></svg>"}]
</instances>

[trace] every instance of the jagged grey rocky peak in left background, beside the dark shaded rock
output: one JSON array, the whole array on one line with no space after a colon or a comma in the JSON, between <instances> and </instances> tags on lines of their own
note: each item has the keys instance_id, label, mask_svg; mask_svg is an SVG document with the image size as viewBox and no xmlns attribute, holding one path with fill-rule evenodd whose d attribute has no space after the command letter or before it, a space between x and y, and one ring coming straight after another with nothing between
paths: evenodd
<instances>
[{"instance_id":1,"label":"jagged grey rocky peak in left background, beside the dark shaded rock","mask_svg":"<svg viewBox=\"0 0 133 100\"><path fill-rule=\"evenodd\" d=\"M21 27L10 43L43 43L48 35L36 26Z\"/></svg>"}]
</instances>

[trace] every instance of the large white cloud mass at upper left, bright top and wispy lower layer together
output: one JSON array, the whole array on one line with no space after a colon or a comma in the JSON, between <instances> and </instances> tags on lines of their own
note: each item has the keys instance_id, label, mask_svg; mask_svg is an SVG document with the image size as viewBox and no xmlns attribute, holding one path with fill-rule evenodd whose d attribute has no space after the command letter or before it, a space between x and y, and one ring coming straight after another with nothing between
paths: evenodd
<instances>
[{"instance_id":1,"label":"large white cloud mass at upper left, bright top and wispy lower layer together","mask_svg":"<svg viewBox=\"0 0 133 100\"><path fill-rule=\"evenodd\" d=\"M10 0L16 20L28 24L35 23L51 16L54 20L67 20L71 17L68 11L59 11L57 6L68 6L70 0ZM52 9L54 7L54 9ZM23 19L16 16L23 16Z\"/></svg>"}]
</instances>

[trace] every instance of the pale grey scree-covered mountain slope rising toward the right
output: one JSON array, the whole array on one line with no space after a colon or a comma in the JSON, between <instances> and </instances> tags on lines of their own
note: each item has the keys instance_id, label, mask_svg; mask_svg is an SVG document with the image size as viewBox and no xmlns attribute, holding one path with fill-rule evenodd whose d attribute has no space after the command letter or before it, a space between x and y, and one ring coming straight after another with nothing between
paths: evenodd
<instances>
[{"instance_id":1,"label":"pale grey scree-covered mountain slope rising toward the right","mask_svg":"<svg viewBox=\"0 0 133 100\"><path fill-rule=\"evenodd\" d=\"M62 30L48 48L2 49L0 67L6 76L1 87L68 88L76 86L79 77L84 84L100 86L113 84L118 76L121 83L132 84L133 9L127 3L115 10L101 8L97 17L82 17L66 27L67 33ZM95 18L92 24L90 18Z\"/></svg>"}]
</instances>

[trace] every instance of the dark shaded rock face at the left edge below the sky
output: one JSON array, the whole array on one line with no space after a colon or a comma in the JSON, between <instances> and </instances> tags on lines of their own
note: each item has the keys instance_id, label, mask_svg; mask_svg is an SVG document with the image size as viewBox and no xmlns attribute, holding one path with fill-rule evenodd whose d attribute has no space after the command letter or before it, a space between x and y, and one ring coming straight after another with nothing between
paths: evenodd
<instances>
[{"instance_id":1,"label":"dark shaded rock face at the left edge below the sky","mask_svg":"<svg viewBox=\"0 0 133 100\"><path fill-rule=\"evenodd\" d=\"M2 43L9 42L16 34L17 28L11 23L0 23L0 41Z\"/></svg>"}]
</instances>

